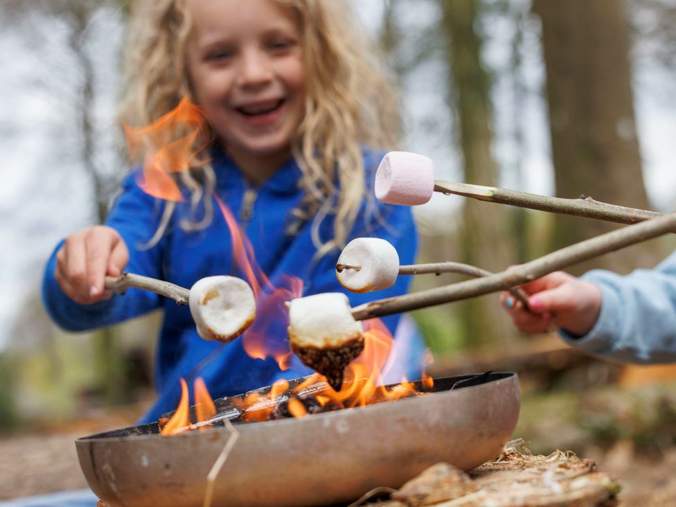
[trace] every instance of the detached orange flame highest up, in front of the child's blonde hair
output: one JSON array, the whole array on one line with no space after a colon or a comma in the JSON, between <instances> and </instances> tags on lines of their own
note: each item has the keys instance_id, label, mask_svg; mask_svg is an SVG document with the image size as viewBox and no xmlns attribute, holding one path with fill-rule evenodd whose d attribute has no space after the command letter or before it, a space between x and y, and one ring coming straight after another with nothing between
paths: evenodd
<instances>
[{"instance_id":1,"label":"detached orange flame highest up, in front of the child's blonde hair","mask_svg":"<svg viewBox=\"0 0 676 507\"><path fill-rule=\"evenodd\" d=\"M143 160L143 175L137 183L153 197L181 202L183 195L171 173L206 162L197 154L207 145L206 118L187 98L159 120L140 128L124 125L132 160ZM198 145L202 143L202 145Z\"/></svg>"}]
</instances>

